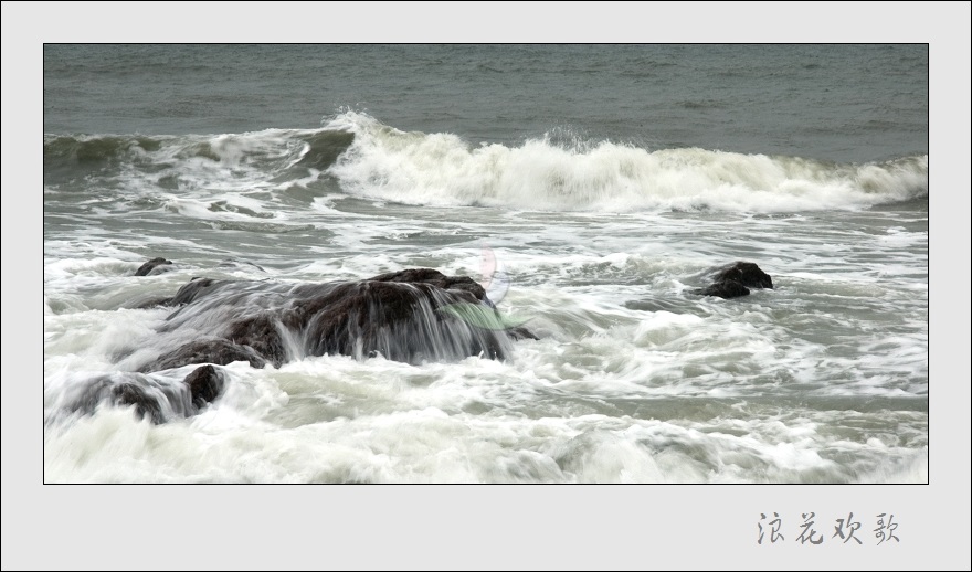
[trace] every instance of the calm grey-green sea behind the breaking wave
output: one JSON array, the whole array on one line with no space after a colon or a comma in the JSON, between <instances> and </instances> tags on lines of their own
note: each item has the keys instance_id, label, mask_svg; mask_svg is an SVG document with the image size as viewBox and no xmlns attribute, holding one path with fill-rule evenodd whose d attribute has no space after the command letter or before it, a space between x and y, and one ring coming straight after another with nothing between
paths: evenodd
<instances>
[{"instance_id":1,"label":"calm grey-green sea behind the breaking wave","mask_svg":"<svg viewBox=\"0 0 972 572\"><path fill-rule=\"evenodd\" d=\"M871 161L928 151L925 45L49 45L44 133L308 129L339 108L518 146L558 134Z\"/></svg>"}]
</instances>

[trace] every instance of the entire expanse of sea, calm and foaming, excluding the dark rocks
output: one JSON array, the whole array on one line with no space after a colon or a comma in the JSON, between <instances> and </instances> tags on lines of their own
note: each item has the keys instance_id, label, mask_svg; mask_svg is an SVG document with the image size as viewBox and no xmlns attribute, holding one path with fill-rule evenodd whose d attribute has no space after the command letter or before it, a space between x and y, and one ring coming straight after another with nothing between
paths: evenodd
<instances>
[{"instance_id":1,"label":"entire expanse of sea, calm and foaming, excluding the dark rocks","mask_svg":"<svg viewBox=\"0 0 972 572\"><path fill-rule=\"evenodd\" d=\"M928 483L928 56L45 45L44 481ZM736 261L774 288L694 294ZM65 409L193 277L414 267L539 339L234 362L161 424Z\"/></svg>"}]
</instances>

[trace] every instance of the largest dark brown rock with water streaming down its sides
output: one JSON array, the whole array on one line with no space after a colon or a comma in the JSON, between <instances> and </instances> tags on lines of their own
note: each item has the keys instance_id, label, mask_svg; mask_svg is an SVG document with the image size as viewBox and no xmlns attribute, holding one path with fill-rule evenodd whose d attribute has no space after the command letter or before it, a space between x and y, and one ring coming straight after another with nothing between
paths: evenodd
<instances>
[{"instance_id":1,"label":"largest dark brown rock with water streaming down its sides","mask_svg":"<svg viewBox=\"0 0 972 572\"><path fill-rule=\"evenodd\" d=\"M452 313L455 304L493 310L472 278L430 268L388 273L367 280L273 284L193 278L166 305L179 306L159 328L172 350L139 371L189 363L224 366L245 360L279 367L305 356L344 354L421 362L467 356L503 359L511 340L536 337L524 327L480 328ZM181 331L201 339L177 347ZM165 346L165 343L162 343Z\"/></svg>"}]
</instances>

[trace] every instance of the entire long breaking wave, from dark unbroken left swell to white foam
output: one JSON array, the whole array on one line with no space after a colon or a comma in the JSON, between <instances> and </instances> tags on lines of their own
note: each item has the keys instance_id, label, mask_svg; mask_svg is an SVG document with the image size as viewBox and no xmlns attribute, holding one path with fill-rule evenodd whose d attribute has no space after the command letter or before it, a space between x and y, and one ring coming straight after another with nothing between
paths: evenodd
<instances>
[{"instance_id":1,"label":"entire long breaking wave, from dark unbroken left swell to white foam","mask_svg":"<svg viewBox=\"0 0 972 572\"><path fill-rule=\"evenodd\" d=\"M422 205L541 211L799 212L928 195L928 155L864 165L700 148L649 150L554 129L519 146L402 131L345 110L318 129L187 136L54 136L44 182L98 177L130 193L328 192ZM337 184L337 189L332 187Z\"/></svg>"}]
</instances>

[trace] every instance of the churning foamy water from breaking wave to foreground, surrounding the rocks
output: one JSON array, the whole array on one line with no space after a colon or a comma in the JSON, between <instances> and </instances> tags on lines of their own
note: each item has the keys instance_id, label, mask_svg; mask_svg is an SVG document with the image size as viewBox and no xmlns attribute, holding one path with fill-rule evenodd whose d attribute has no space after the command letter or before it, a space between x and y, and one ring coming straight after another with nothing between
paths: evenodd
<instances>
[{"instance_id":1,"label":"churning foamy water from breaking wave to foreground, surrounding the rocks","mask_svg":"<svg viewBox=\"0 0 972 572\"><path fill-rule=\"evenodd\" d=\"M305 167L328 130L351 148ZM157 139L84 193L45 189L47 481L927 481L927 214L866 208L927 192L925 157L468 147L360 114ZM134 276L157 255L169 272ZM736 259L775 289L694 294ZM54 413L212 326L162 336L171 308L133 309L193 277L418 266L501 272L497 307L540 339L415 364L294 345L279 368L221 367L225 393L188 419ZM171 389L192 370L147 375Z\"/></svg>"}]
</instances>

